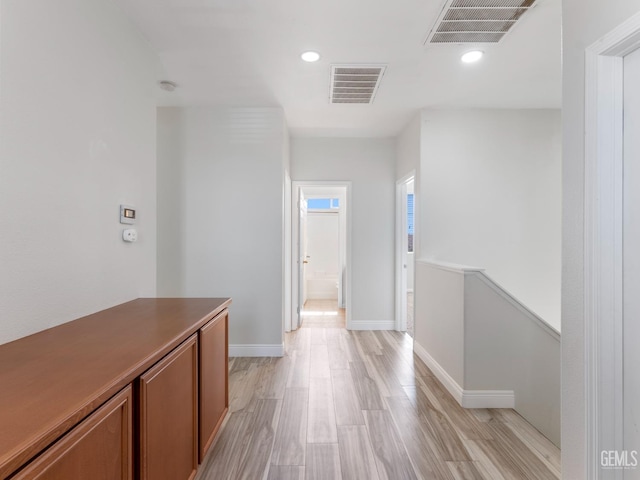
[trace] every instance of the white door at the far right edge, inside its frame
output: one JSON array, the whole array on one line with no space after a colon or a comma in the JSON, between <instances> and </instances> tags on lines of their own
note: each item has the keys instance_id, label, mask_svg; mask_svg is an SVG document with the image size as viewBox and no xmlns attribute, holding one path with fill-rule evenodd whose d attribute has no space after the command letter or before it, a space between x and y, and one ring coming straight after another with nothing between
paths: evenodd
<instances>
[{"instance_id":1,"label":"white door at the far right edge, inside its frame","mask_svg":"<svg viewBox=\"0 0 640 480\"><path fill-rule=\"evenodd\" d=\"M624 58L623 338L625 480L640 479L640 50Z\"/></svg>"}]
</instances>

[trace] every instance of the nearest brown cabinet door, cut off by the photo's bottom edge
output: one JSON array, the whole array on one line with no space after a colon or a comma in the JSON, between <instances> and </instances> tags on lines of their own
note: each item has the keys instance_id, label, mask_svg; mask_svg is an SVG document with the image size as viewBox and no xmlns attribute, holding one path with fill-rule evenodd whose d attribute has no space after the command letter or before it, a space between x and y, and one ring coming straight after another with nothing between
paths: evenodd
<instances>
[{"instance_id":1,"label":"nearest brown cabinet door, cut off by the photo's bottom edge","mask_svg":"<svg viewBox=\"0 0 640 480\"><path fill-rule=\"evenodd\" d=\"M131 480L131 386L80 422L14 480Z\"/></svg>"}]
</instances>

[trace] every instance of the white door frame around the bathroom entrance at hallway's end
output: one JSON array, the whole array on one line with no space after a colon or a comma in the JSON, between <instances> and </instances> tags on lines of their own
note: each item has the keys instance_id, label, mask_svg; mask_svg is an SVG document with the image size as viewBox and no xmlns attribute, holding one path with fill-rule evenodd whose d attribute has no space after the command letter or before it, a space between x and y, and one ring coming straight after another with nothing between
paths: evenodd
<instances>
[{"instance_id":1,"label":"white door frame around the bathroom entrance at hallway's end","mask_svg":"<svg viewBox=\"0 0 640 480\"><path fill-rule=\"evenodd\" d=\"M344 274L344 299L345 299L345 317L346 327L351 329L351 182L350 181L314 181L314 180L295 180L291 182L291 248L289 256L291 258L291 269L289 275L291 276L291 303L289 305L290 315L288 322L285 322L285 331L289 332L293 329L294 324L298 322L298 281L299 281L299 252L298 252L298 228L299 228L299 205L298 198L300 190L305 187L344 187L345 188L345 210L346 217L346 231L345 231L345 243L346 243L346 272ZM301 306L300 306L301 307Z\"/></svg>"}]
</instances>

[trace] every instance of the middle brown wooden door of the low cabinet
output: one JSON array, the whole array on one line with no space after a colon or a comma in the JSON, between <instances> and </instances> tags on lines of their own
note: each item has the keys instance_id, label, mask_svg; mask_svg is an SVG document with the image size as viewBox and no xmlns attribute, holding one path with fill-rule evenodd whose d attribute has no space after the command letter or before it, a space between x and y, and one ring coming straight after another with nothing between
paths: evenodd
<instances>
[{"instance_id":1,"label":"middle brown wooden door of the low cabinet","mask_svg":"<svg viewBox=\"0 0 640 480\"><path fill-rule=\"evenodd\" d=\"M139 388L140 478L193 478L198 467L197 334L147 370Z\"/></svg>"}]
</instances>

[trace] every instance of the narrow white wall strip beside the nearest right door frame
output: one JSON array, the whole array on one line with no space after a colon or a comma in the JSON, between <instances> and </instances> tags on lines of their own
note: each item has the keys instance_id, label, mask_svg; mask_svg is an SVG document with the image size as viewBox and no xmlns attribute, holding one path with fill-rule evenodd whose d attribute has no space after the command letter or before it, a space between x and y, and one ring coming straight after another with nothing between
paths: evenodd
<instances>
[{"instance_id":1,"label":"narrow white wall strip beside the nearest right door frame","mask_svg":"<svg viewBox=\"0 0 640 480\"><path fill-rule=\"evenodd\" d=\"M585 48L640 11L640 0L563 0L562 472L586 478L584 399Z\"/></svg>"}]
</instances>

